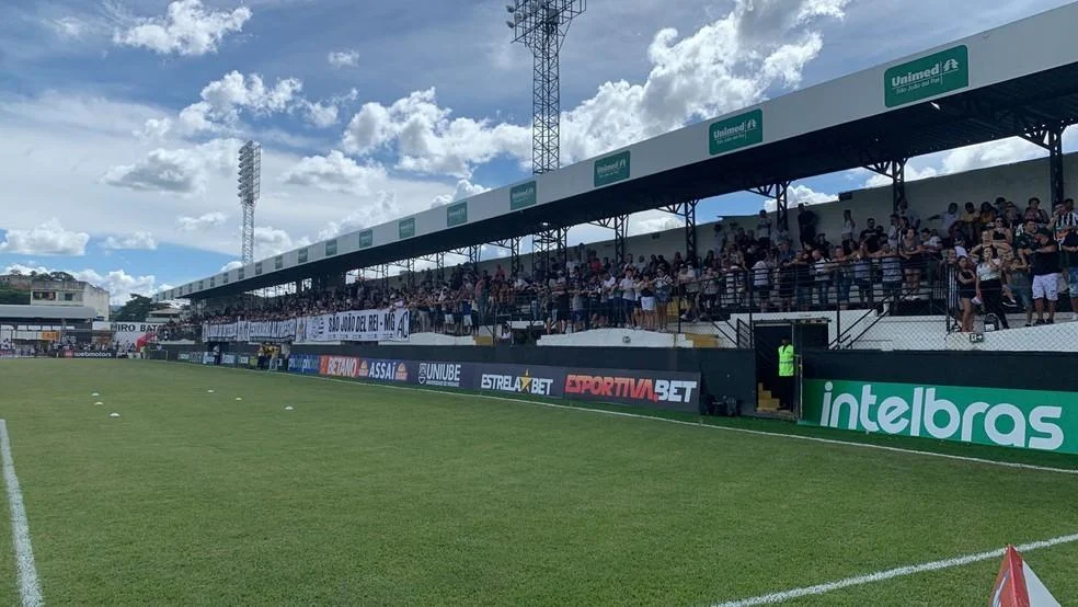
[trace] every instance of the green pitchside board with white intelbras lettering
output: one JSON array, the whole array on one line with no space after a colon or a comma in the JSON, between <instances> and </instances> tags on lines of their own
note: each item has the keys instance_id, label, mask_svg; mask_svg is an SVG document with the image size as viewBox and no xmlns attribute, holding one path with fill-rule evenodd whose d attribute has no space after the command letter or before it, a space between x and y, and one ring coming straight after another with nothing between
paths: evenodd
<instances>
[{"instance_id":1,"label":"green pitchside board with white intelbras lettering","mask_svg":"<svg viewBox=\"0 0 1078 607\"><path fill-rule=\"evenodd\" d=\"M1078 392L806 379L802 423L1078 454Z\"/></svg>"}]
</instances>

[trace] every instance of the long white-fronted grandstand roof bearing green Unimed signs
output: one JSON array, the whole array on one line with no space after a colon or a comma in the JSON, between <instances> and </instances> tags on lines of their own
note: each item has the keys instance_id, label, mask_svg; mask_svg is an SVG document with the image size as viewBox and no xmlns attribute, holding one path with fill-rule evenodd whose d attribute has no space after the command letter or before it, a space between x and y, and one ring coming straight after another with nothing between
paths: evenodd
<instances>
[{"instance_id":1,"label":"long white-fronted grandstand roof bearing green Unimed signs","mask_svg":"<svg viewBox=\"0 0 1078 607\"><path fill-rule=\"evenodd\" d=\"M1071 3L167 290L233 295L1078 122Z\"/></svg>"}]
</instances>

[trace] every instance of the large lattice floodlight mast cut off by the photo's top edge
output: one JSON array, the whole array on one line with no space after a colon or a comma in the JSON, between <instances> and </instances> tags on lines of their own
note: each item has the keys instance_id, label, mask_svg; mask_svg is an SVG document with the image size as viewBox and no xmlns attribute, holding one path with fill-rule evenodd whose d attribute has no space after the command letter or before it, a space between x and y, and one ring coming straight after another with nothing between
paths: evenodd
<instances>
[{"instance_id":1,"label":"large lattice floodlight mast cut off by the photo's top edge","mask_svg":"<svg viewBox=\"0 0 1078 607\"><path fill-rule=\"evenodd\" d=\"M531 167L536 174L558 169L560 152L561 85L559 60L562 42L573 18L587 0L515 0L505 7L512 19L513 42L531 50Z\"/></svg>"}]
</instances>

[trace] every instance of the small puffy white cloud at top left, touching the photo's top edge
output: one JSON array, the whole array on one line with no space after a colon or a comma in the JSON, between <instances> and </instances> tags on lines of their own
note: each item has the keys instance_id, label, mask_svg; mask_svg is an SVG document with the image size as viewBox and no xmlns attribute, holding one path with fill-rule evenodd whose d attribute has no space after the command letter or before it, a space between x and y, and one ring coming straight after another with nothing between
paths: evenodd
<instances>
[{"instance_id":1,"label":"small puffy white cloud at top left, touching the photo's top edge","mask_svg":"<svg viewBox=\"0 0 1078 607\"><path fill-rule=\"evenodd\" d=\"M226 35L240 32L252 16L251 9L207 11L200 0L176 0L163 18L137 19L113 34L123 46L144 47L161 55L199 56L217 53Z\"/></svg>"}]
</instances>

